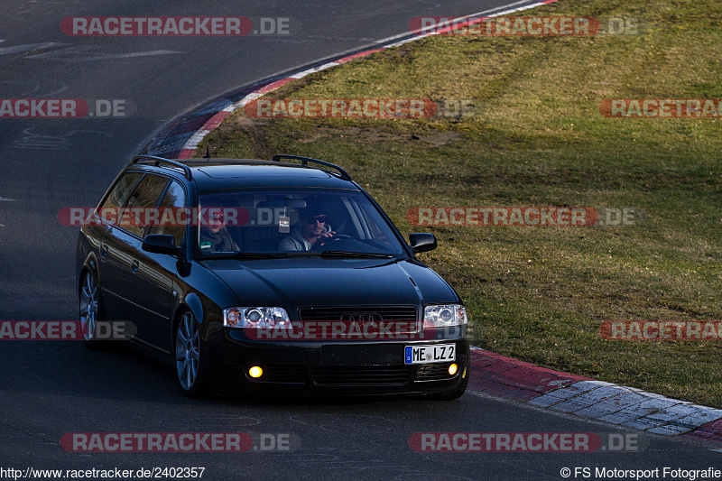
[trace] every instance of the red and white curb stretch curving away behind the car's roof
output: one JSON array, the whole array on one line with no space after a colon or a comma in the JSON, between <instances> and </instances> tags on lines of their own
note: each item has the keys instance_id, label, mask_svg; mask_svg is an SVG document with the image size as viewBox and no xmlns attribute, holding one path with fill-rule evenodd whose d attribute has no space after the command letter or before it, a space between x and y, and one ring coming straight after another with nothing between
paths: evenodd
<instances>
[{"instance_id":1,"label":"red and white curb stretch curving away behind the car's roof","mask_svg":"<svg viewBox=\"0 0 722 481\"><path fill-rule=\"evenodd\" d=\"M513 14L515 12L521 12L528 10L539 5L553 4L557 0L543 0L530 3L528 0L522 2L514 2L514 4L506 5L512 8L506 8L505 10L495 11L493 9L485 12L479 12L477 14L466 15L461 18L492 18L496 16ZM420 33L409 32L402 35L397 35L391 39L378 42L378 46L367 49L365 51L359 51L353 55L347 55L340 57L335 60L331 60L327 63L323 63L310 69L301 69L287 77L280 79L265 79L244 88L240 92L236 93L235 96L230 98L224 98L217 102L214 102L208 106L203 107L197 112L194 112L190 116L184 118L179 123L172 125L164 134L157 136L153 142L151 142L145 149L145 153L151 155L161 155L167 158L175 159L190 159L195 155L198 150L198 144L205 138L206 135L210 134L213 130L218 128L221 122L223 122L227 116L233 114L237 109L244 107L246 104L253 100L263 97L264 94L280 88L294 79L302 79L311 73L318 72L320 70L330 69L346 63L348 60L357 59L359 57L366 57L375 53L376 51L384 51L392 47L398 47L404 43L413 42L422 38L429 37L431 35L439 35L440 33L450 31L452 28L458 28L463 26L464 23L458 22L454 27L440 29L436 32ZM396 40L396 39L401 40Z\"/></svg>"}]
</instances>

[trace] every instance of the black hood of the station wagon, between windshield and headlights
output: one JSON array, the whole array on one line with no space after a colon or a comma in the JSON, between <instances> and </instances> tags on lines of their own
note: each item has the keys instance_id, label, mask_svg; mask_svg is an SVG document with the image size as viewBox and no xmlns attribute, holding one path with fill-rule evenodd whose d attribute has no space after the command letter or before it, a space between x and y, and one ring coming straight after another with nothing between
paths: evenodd
<instances>
[{"instance_id":1,"label":"black hood of the station wagon, between windshield and headlights","mask_svg":"<svg viewBox=\"0 0 722 481\"><path fill-rule=\"evenodd\" d=\"M238 305L296 310L459 301L439 274L413 260L290 258L203 264L236 293Z\"/></svg>"}]
</instances>

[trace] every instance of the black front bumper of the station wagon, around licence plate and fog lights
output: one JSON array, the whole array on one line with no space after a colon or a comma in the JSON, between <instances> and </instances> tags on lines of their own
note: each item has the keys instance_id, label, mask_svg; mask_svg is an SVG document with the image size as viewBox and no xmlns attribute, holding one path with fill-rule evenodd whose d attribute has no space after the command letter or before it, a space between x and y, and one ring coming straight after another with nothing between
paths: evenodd
<instances>
[{"instance_id":1,"label":"black front bumper of the station wagon, around licence plate and fog lights","mask_svg":"<svg viewBox=\"0 0 722 481\"><path fill-rule=\"evenodd\" d=\"M221 334L221 333L219 333ZM468 376L469 345L459 338L409 341L259 341L240 330L224 329L210 371L221 393L384 395L443 393ZM404 349L414 345L454 344L456 359L440 363L405 365ZM458 365L449 375L449 365ZM264 375L253 379L252 366Z\"/></svg>"}]
</instances>

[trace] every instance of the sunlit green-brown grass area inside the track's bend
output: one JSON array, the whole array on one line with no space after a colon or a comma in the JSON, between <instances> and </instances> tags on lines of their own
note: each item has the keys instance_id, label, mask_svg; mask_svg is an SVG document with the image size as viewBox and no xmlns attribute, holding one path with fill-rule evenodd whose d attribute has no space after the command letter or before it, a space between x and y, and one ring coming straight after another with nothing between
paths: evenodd
<instances>
[{"instance_id":1,"label":"sunlit green-brown grass area inside the track's bend","mask_svg":"<svg viewBox=\"0 0 722 481\"><path fill-rule=\"evenodd\" d=\"M610 119L605 98L722 97L722 4L560 2L535 14L636 17L637 35L434 37L268 97L473 99L467 118L251 119L216 156L335 162L467 303L473 342L507 356L722 408L722 341L609 341L615 319L722 319L722 123ZM205 143L199 153L205 152ZM409 208L638 208L627 227L413 227Z\"/></svg>"}]
</instances>

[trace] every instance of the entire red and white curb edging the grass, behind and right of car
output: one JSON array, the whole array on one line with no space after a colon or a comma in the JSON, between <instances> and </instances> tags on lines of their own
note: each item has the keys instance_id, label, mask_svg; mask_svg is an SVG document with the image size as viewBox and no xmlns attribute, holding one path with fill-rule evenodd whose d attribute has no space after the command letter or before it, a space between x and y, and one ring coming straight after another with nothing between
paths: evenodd
<instances>
[{"instance_id":1,"label":"entire red and white curb edging the grass, behind and right of car","mask_svg":"<svg viewBox=\"0 0 722 481\"><path fill-rule=\"evenodd\" d=\"M556 1L516 2L507 5L513 8L499 12L480 12L467 15L466 18L491 18L513 14ZM457 27L461 24L458 23ZM380 46L340 57L310 69L301 69L286 77L255 82L237 92L234 97L224 98L205 106L176 125L172 125L164 134L156 137L145 152L168 158L190 159L198 150L200 141L215 130L227 116L266 93L311 73L337 67L349 60L442 32L445 31L403 34L388 42L380 42ZM396 38L401 40L395 41ZM722 442L722 410L671 399L660 394L645 393L633 387L561 373L478 347L472 347L471 365L469 378L471 390L551 411L606 421L626 428Z\"/></svg>"}]
</instances>

